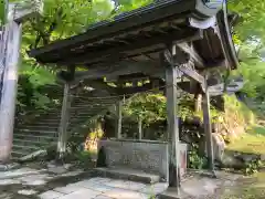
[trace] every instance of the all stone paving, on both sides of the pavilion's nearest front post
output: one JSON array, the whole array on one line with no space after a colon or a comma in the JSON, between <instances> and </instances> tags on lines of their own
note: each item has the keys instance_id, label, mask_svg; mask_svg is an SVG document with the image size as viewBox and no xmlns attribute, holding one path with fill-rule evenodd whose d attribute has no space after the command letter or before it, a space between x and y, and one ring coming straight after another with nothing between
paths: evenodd
<instances>
[{"instance_id":1,"label":"all stone paving, on both sides of the pavilion's nearest front post","mask_svg":"<svg viewBox=\"0 0 265 199\"><path fill-rule=\"evenodd\" d=\"M240 175L224 171L218 178L192 174L182 181L183 199L218 199L224 189L236 185ZM29 167L0 171L0 199L149 199L167 189L155 185L95 176L93 171L33 169Z\"/></svg>"}]
</instances>

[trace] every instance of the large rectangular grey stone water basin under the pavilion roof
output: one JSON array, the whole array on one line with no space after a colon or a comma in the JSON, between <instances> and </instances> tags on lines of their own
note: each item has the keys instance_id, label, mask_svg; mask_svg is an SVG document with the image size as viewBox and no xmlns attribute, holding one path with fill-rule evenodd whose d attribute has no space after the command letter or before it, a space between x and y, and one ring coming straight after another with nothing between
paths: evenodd
<instances>
[{"instance_id":1,"label":"large rectangular grey stone water basin under the pavilion roof","mask_svg":"<svg viewBox=\"0 0 265 199\"><path fill-rule=\"evenodd\" d=\"M97 146L98 150L104 147L108 167L139 169L168 179L167 143L99 140Z\"/></svg>"}]
</instances>

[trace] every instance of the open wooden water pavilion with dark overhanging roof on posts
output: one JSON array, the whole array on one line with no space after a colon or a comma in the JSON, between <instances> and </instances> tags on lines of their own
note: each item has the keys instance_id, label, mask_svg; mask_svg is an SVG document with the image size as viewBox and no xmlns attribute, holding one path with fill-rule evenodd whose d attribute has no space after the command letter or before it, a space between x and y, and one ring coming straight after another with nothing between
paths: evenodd
<instances>
[{"instance_id":1,"label":"open wooden water pavilion with dark overhanging roof on posts","mask_svg":"<svg viewBox=\"0 0 265 199\"><path fill-rule=\"evenodd\" d=\"M120 155L116 156L121 156L126 147L130 148L126 151L144 147L150 156L151 153L157 153L155 159L149 157L148 161L158 164L153 169L157 168L170 182L170 187L179 190L181 144L177 123L178 85L189 93L202 93L206 156L209 168L213 171L209 86L214 85L212 78L216 78L211 75L212 69L235 70L237 66L231 35L234 19L233 14L227 13L224 0L161 0L117 15L115 20L96 23L82 34L30 51L30 55L40 63L53 63L57 67L67 69L59 74L65 82L59 137L60 153L65 150L70 103L67 93L71 84L93 80L102 83L107 90L110 87L107 82L115 82L123 93L126 91L123 87L125 80L132 82L137 77L148 77L150 84L156 82L166 88L168 140L166 143L123 140L121 124L118 123L116 139L107 140L112 144L107 142L100 144L109 153L107 157L113 156L112 163L109 161L107 166L115 165L117 157L112 154L113 150L107 150L115 143L120 149ZM75 71L77 65L87 71ZM181 76L184 76L186 81L181 81ZM216 82L220 80L215 80ZM132 91L137 92L139 87L135 86L130 90ZM137 160L134 158L130 160L127 166L151 170L151 167L144 168L147 163L137 165L132 163ZM117 163L121 164L120 158Z\"/></svg>"}]
</instances>

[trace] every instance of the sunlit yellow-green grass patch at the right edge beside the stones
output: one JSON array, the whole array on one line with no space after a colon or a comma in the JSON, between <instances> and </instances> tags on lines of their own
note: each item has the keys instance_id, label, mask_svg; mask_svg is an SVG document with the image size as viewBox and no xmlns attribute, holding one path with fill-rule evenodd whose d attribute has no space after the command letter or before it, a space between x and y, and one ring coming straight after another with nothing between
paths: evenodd
<instances>
[{"instance_id":1,"label":"sunlit yellow-green grass patch at the right edge beside the stones","mask_svg":"<svg viewBox=\"0 0 265 199\"><path fill-rule=\"evenodd\" d=\"M265 127L255 126L250 133L231 143L227 149L251 154L265 154Z\"/></svg>"}]
</instances>

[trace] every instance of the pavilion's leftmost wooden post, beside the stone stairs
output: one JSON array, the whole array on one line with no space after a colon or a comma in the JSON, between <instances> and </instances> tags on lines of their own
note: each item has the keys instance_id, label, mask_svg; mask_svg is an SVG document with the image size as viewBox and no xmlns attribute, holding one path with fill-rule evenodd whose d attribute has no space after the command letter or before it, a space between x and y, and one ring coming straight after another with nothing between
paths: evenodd
<instances>
[{"instance_id":1,"label":"pavilion's leftmost wooden post, beside the stone stairs","mask_svg":"<svg viewBox=\"0 0 265 199\"><path fill-rule=\"evenodd\" d=\"M70 119L70 107L71 107L71 96L70 96L70 84L64 84L64 96L63 96L63 105L61 112L61 122L59 127L59 140L57 140L57 153L59 158L63 158L66 153L67 145L67 126Z\"/></svg>"}]
</instances>

